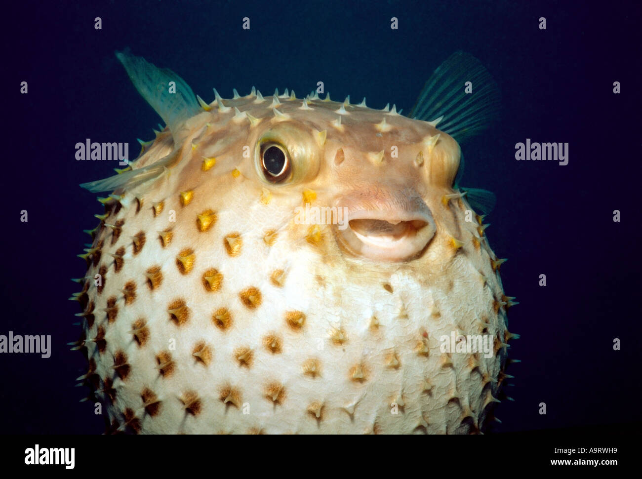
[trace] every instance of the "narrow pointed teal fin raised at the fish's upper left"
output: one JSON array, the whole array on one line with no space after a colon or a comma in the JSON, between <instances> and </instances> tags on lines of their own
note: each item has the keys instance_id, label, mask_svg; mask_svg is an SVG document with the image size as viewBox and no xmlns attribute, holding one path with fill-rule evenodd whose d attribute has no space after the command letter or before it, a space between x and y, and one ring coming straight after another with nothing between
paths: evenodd
<instances>
[{"instance_id":1,"label":"narrow pointed teal fin raised at the fish's upper left","mask_svg":"<svg viewBox=\"0 0 642 479\"><path fill-rule=\"evenodd\" d=\"M138 92L169 126L172 135L186 119L203 111L192 89L173 71L157 68L143 57L135 57L128 48L117 51L116 57ZM176 93L169 92L169 82L176 83Z\"/></svg>"}]
</instances>

